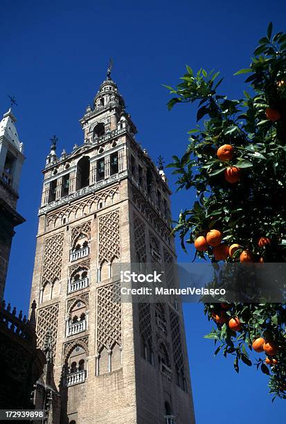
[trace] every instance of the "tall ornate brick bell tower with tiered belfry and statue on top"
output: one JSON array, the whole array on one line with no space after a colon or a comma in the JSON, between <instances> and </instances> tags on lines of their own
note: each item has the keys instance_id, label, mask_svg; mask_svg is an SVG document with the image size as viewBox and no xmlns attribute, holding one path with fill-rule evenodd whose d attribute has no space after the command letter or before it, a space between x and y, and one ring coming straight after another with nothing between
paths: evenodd
<instances>
[{"instance_id":1,"label":"tall ornate brick bell tower with tiered belfry and statue on top","mask_svg":"<svg viewBox=\"0 0 286 424\"><path fill-rule=\"evenodd\" d=\"M46 158L31 290L60 422L195 423L180 301L114 301L116 263L175 261L163 167L136 142L110 71L80 123L84 142L57 157L54 137Z\"/></svg>"}]
</instances>

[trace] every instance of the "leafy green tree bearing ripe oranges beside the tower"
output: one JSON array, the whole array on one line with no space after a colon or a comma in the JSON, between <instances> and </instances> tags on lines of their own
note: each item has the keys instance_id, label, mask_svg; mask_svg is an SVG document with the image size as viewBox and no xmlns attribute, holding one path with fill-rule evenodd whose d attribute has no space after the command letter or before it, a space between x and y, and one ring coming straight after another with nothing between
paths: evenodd
<instances>
[{"instance_id":1,"label":"leafy green tree bearing ripe oranges beside the tower","mask_svg":"<svg viewBox=\"0 0 286 424\"><path fill-rule=\"evenodd\" d=\"M272 24L253 53L249 93L229 100L217 88L219 73L190 67L172 88L168 109L198 103L190 143L173 157L178 189L195 189L197 200L181 211L175 232L181 245L194 243L196 256L213 263L286 261L286 34L272 37ZM218 81L217 81L218 80ZM284 303L205 303L215 328L207 338L215 354L269 375L274 398L286 398L286 308ZM250 351L253 351L251 353Z\"/></svg>"}]
</instances>

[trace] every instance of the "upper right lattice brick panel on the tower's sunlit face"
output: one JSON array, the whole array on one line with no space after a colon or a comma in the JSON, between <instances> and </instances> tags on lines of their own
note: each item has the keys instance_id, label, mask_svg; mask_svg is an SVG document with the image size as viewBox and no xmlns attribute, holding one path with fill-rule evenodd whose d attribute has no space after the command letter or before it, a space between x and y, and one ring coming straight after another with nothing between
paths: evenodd
<instances>
[{"instance_id":1,"label":"upper right lattice brick panel on the tower's sunlit face","mask_svg":"<svg viewBox=\"0 0 286 424\"><path fill-rule=\"evenodd\" d=\"M101 215L98 223L99 265L120 257L119 209Z\"/></svg>"}]
</instances>

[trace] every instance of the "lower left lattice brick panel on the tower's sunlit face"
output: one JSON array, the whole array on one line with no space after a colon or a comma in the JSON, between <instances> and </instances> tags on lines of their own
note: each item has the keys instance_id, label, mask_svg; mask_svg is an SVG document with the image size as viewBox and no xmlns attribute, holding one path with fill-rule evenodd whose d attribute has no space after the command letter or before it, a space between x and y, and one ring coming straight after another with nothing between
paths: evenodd
<instances>
[{"instance_id":1,"label":"lower left lattice brick panel on the tower's sunlit face","mask_svg":"<svg viewBox=\"0 0 286 424\"><path fill-rule=\"evenodd\" d=\"M59 303L53 303L53 305L41 308L37 312L37 347L44 347L46 332L51 330L53 356L55 356L55 345L57 343L58 315Z\"/></svg>"}]
</instances>

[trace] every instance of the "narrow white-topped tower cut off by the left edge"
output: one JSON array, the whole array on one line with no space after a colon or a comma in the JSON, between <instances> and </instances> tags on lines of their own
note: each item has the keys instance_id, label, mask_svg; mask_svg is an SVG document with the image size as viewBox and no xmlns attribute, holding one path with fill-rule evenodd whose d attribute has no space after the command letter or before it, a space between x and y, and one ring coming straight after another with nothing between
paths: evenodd
<instances>
[{"instance_id":1,"label":"narrow white-topped tower cut off by the left edge","mask_svg":"<svg viewBox=\"0 0 286 424\"><path fill-rule=\"evenodd\" d=\"M0 121L0 301L3 299L14 227L24 222L24 218L16 211L25 157L15 122L11 109Z\"/></svg>"}]
</instances>

